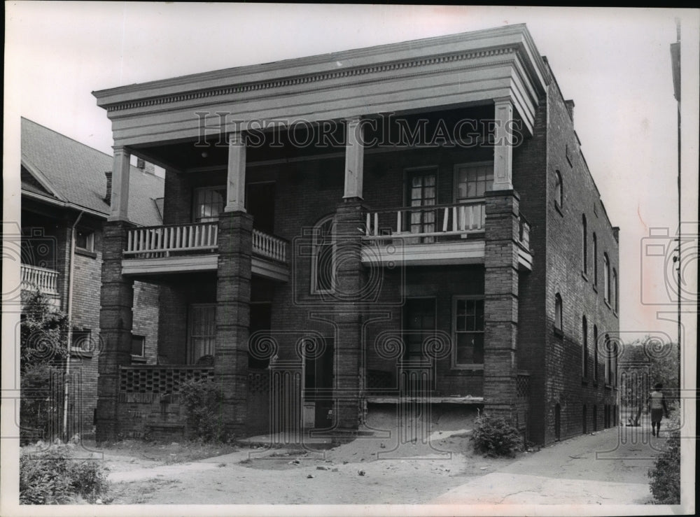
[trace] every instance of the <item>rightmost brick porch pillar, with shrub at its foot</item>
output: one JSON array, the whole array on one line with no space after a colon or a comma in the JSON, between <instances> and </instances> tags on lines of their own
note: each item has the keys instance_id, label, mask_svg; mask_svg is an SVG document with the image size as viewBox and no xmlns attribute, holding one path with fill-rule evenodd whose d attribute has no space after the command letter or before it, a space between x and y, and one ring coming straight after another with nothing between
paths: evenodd
<instances>
[{"instance_id":1,"label":"rightmost brick porch pillar, with shrub at its foot","mask_svg":"<svg viewBox=\"0 0 700 517\"><path fill-rule=\"evenodd\" d=\"M517 192L486 192L484 409L512 418L517 401Z\"/></svg>"}]
</instances>

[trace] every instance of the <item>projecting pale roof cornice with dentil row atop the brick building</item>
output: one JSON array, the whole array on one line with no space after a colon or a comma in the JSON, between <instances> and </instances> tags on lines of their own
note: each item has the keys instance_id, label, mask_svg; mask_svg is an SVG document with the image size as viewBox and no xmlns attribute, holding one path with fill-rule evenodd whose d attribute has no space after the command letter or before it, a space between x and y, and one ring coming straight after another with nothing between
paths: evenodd
<instances>
[{"instance_id":1,"label":"projecting pale roof cornice with dentil row atop the brick building","mask_svg":"<svg viewBox=\"0 0 700 517\"><path fill-rule=\"evenodd\" d=\"M93 92L111 116L134 108L166 108L168 104L231 94L246 94L372 74L407 71L468 59L517 53L535 85L547 84L547 73L524 24L378 45L280 62L240 66L149 83ZM404 72L405 73L405 72ZM270 92L272 94L272 92Z\"/></svg>"}]
</instances>

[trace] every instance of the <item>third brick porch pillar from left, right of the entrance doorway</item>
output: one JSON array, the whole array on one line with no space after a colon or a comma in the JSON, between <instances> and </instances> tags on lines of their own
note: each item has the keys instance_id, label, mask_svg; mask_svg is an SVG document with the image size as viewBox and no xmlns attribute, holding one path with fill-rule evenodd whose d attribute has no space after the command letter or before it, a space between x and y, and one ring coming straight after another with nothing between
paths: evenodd
<instances>
[{"instance_id":1,"label":"third brick porch pillar from left, right of the entrance doorway","mask_svg":"<svg viewBox=\"0 0 700 517\"><path fill-rule=\"evenodd\" d=\"M361 235L363 206L345 199L335 211L335 289L330 303L335 311L335 414L341 430L356 430L360 412L360 371L363 304L375 293L365 292Z\"/></svg>"}]
</instances>

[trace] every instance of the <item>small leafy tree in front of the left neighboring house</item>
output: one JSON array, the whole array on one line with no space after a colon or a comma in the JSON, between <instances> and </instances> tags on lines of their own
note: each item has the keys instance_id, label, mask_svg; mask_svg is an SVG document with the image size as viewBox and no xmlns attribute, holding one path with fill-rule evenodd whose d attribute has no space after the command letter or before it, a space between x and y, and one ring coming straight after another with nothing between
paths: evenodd
<instances>
[{"instance_id":1,"label":"small leafy tree in front of the left neighboring house","mask_svg":"<svg viewBox=\"0 0 700 517\"><path fill-rule=\"evenodd\" d=\"M20 320L20 441L52 439L60 429L62 365L68 357L68 317L41 292L22 292Z\"/></svg>"}]
</instances>

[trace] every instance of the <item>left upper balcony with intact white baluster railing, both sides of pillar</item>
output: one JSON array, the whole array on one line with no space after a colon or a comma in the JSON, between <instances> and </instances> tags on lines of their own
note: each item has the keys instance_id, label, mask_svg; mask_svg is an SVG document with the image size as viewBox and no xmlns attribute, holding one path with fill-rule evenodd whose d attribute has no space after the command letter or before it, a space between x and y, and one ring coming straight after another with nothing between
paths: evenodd
<instances>
[{"instance_id":1,"label":"left upper balcony with intact white baluster railing, both sides of pillar","mask_svg":"<svg viewBox=\"0 0 700 517\"><path fill-rule=\"evenodd\" d=\"M287 241L253 229L255 275L289 280ZM122 272L127 276L216 271L218 222L140 227L129 230Z\"/></svg>"}]
</instances>

